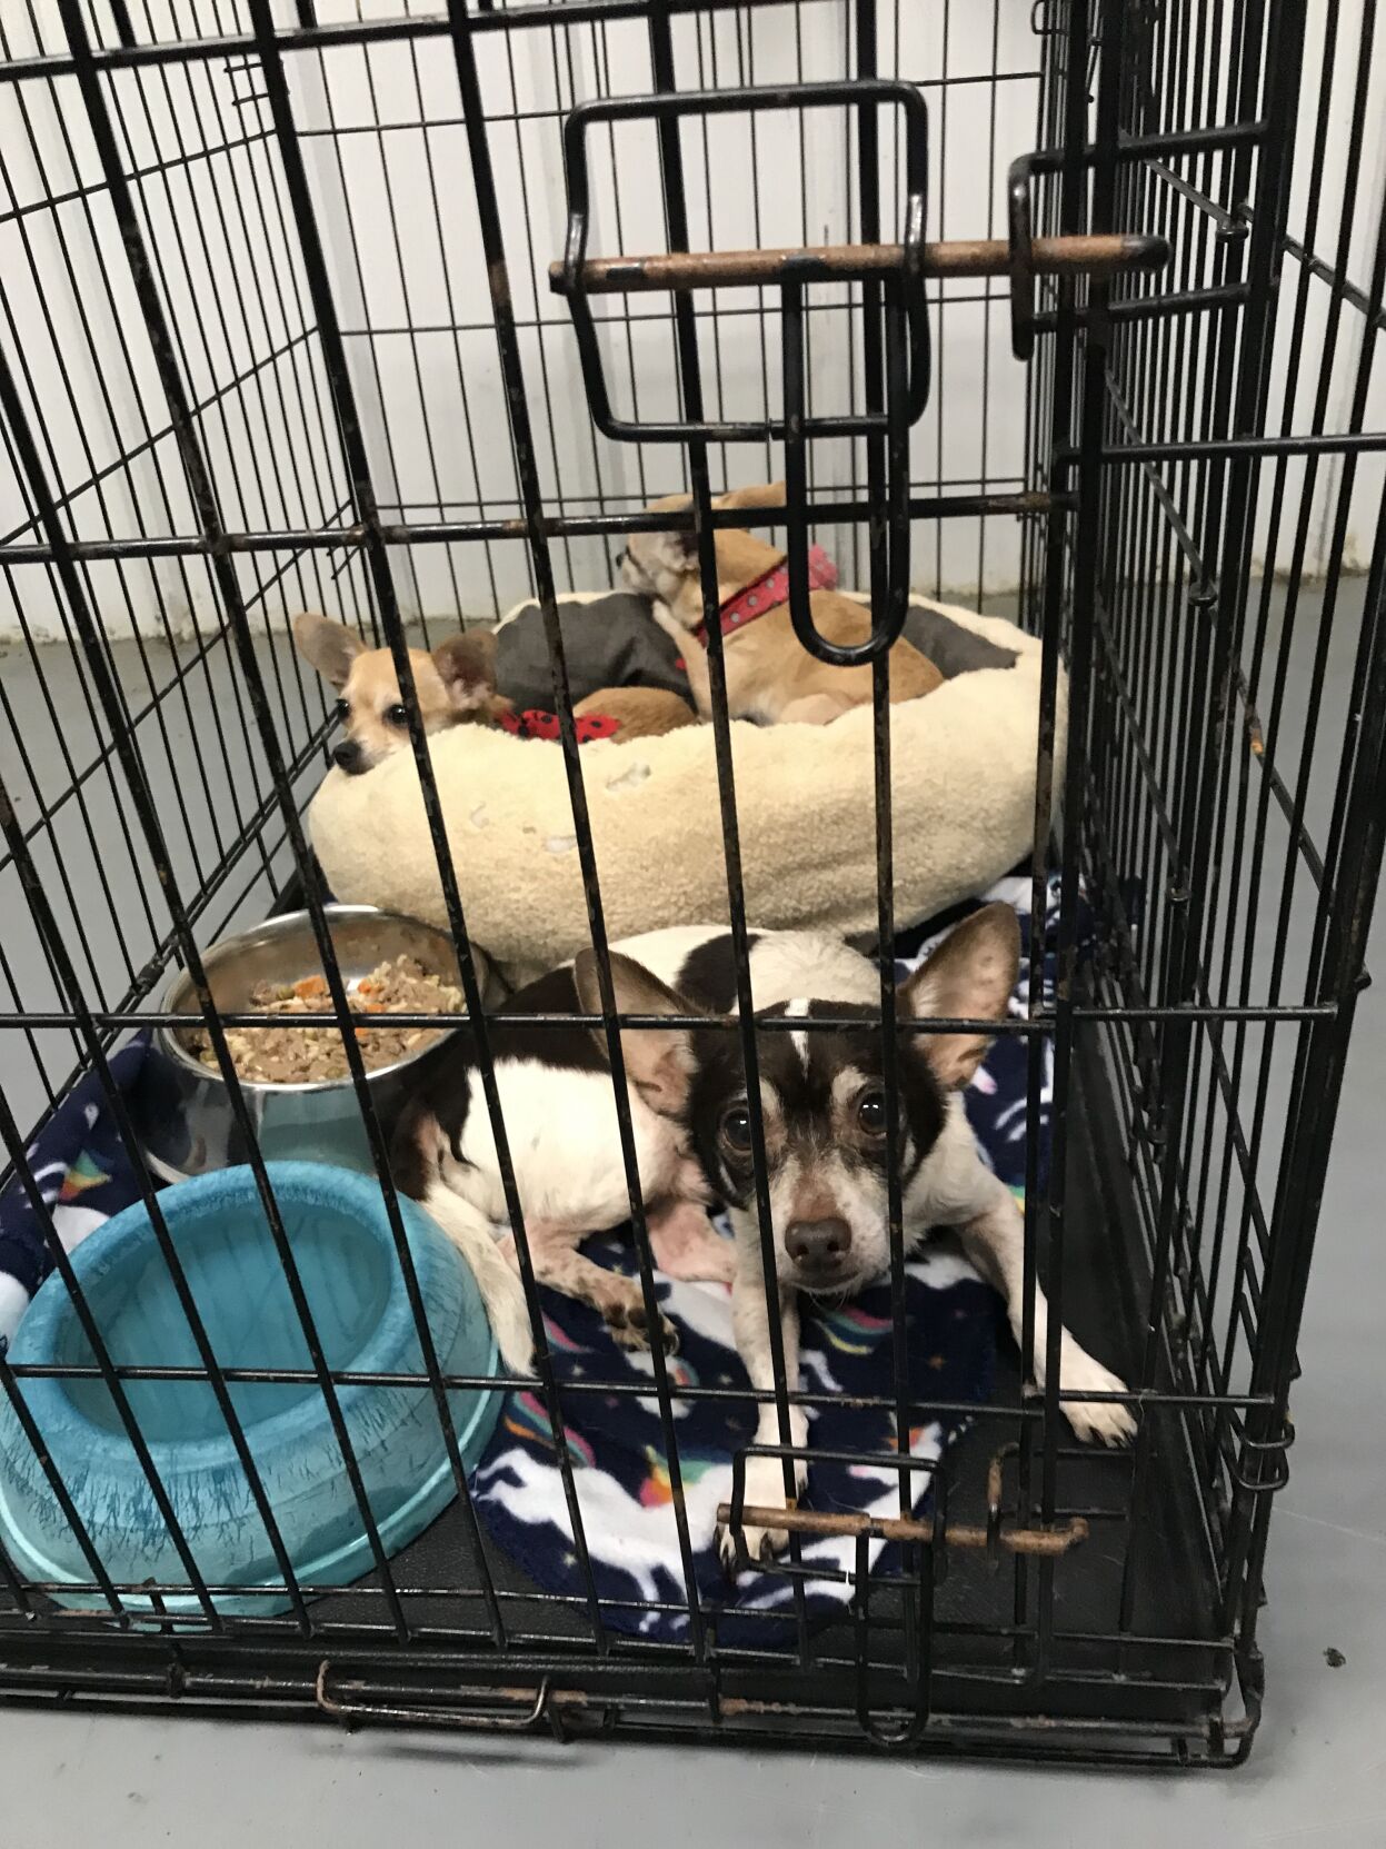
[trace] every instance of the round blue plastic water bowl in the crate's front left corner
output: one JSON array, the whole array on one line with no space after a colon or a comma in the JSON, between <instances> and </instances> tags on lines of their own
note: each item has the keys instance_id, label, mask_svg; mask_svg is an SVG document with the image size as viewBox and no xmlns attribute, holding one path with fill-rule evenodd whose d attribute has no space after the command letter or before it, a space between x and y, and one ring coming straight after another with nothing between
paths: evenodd
<instances>
[{"instance_id":1,"label":"round blue plastic water bowl in the crate's front left corner","mask_svg":"<svg viewBox=\"0 0 1386 1849\"><path fill-rule=\"evenodd\" d=\"M407 1387L338 1387L381 1544L397 1553L453 1500L456 1483L381 1185L320 1163L272 1163L270 1180L327 1366L418 1376ZM303 1322L249 1169L183 1182L159 1204L218 1365L310 1370ZM399 1206L442 1372L493 1374L495 1341L471 1270L412 1202ZM142 1206L78 1246L72 1268L116 1366L201 1366ZM92 1366L92 1346L61 1278L35 1296L11 1361ZM102 1566L122 1588L124 1609L201 1614L192 1590L133 1590L192 1581L103 1379L18 1376L18 1390ZM213 1385L128 1379L124 1390L203 1585L235 1588L211 1594L216 1610L290 1609ZM235 1381L227 1392L299 1586L342 1586L370 1573L375 1555L316 1379ZM503 1389L447 1392L468 1470L486 1448L503 1398ZM7 1402L0 1407L0 1538L20 1572L46 1585L57 1603L111 1609L103 1592L91 1590L92 1566ZM85 1590L67 1592L68 1585Z\"/></svg>"}]
</instances>

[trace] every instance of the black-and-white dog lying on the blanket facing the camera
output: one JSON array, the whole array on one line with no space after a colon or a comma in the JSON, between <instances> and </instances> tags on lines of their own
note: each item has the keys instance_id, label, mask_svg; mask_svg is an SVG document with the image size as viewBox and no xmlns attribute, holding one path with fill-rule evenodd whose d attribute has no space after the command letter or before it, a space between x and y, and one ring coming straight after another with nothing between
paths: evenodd
<instances>
[{"instance_id":1,"label":"black-and-white dog lying on the blanket facing the camera","mask_svg":"<svg viewBox=\"0 0 1386 1849\"><path fill-rule=\"evenodd\" d=\"M1020 932L1009 906L959 924L900 989L902 1017L1003 1019L1015 987ZM798 1385L798 1294L846 1296L889 1268L885 1207L887 1096L881 1080L880 976L835 937L752 934L750 978L758 1019L802 1028L758 1032L765 1161L785 1366ZM706 1017L708 1028L626 1028L621 1052L656 1265L680 1278L732 1276L736 1341L752 1385L772 1387L771 1331L754 1213L752 1126L739 1035L713 1026L734 1006L732 939L719 926L684 926L626 939L612 954L617 1011ZM626 1180L615 1128L604 1032L525 1022L514 1013L597 1013L590 950L516 995L492 1019L495 1082L541 1283L593 1304L623 1346L650 1337L639 1283L582 1257L588 1233L626 1217ZM861 1030L813 1032L815 1015L859 1017ZM906 1250L931 1228L957 1230L965 1252L1005 1300L1020 1339L1024 1224L1009 1189L983 1165L961 1093L987 1048L985 1032L902 1034L898 1039L896 1156ZM392 1154L395 1182L419 1200L471 1263L497 1341L514 1370L530 1359L517 1278L492 1228L505 1196L482 1104L475 1048L462 1028L407 1108ZM736 1239L719 1239L706 1204L730 1209ZM662 1320L665 1348L676 1335ZM1035 1291L1035 1370L1042 1385L1046 1304ZM1124 1392L1122 1381L1068 1333L1061 1339L1068 1392ZM1135 1426L1114 1402L1066 1402L1079 1439L1125 1442ZM806 1418L791 1413L804 1444ZM763 1403L758 1442L778 1440ZM800 1487L806 1466L798 1464ZM747 1505L784 1507L778 1459L748 1459ZM780 1529L745 1531L756 1555L784 1546ZM724 1557L732 1542L723 1538Z\"/></svg>"}]
</instances>

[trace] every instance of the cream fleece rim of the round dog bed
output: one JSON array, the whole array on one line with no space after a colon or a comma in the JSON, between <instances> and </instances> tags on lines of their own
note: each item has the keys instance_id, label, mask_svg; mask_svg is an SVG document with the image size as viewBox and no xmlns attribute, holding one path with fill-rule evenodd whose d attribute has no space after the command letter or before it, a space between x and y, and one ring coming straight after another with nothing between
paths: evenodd
<instances>
[{"instance_id":1,"label":"cream fleece rim of the round dog bed","mask_svg":"<svg viewBox=\"0 0 1386 1849\"><path fill-rule=\"evenodd\" d=\"M998 618L913 599L1015 651L891 708L900 928L983 891L1026 852L1040 645ZM1066 741L1059 679L1057 764ZM870 708L828 727L732 725L747 917L763 930L876 930ZM429 741L468 930L512 980L571 958L588 913L558 745L462 725ZM580 751L606 932L726 919L711 727ZM309 810L333 895L447 924L412 754L329 771Z\"/></svg>"}]
</instances>

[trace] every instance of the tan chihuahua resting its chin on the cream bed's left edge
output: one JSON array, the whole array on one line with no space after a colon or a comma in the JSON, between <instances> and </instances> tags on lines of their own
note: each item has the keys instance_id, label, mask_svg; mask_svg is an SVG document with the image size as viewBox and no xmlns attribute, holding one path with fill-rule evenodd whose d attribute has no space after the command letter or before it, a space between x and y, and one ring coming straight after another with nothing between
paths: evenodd
<instances>
[{"instance_id":1,"label":"tan chihuahua resting its chin on the cream bed's left edge","mask_svg":"<svg viewBox=\"0 0 1386 1849\"><path fill-rule=\"evenodd\" d=\"M338 708L346 738L333 747L333 764L349 777L373 769L401 745L408 745L408 708L399 695L399 677L388 649L370 649L346 623L303 610L294 618L294 643L312 667L342 695ZM453 725L495 725L521 736L556 738L556 719L540 730L525 725L540 716L516 714L495 686L495 632L473 629L449 636L432 653L408 651L419 719L425 734ZM541 716L553 719L553 716ZM697 725L687 703L663 688L601 688L577 701L573 717L578 741L586 738L656 738L680 725Z\"/></svg>"}]
</instances>

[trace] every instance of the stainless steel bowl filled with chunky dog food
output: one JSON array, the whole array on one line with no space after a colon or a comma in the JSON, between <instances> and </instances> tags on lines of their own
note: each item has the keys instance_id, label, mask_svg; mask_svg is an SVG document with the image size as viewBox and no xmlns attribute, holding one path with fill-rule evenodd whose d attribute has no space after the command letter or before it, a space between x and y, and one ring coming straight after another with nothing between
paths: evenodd
<instances>
[{"instance_id":1,"label":"stainless steel bowl filled with chunky dog food","mask_svg":"<svg viewBox=\"0 0 1386 1849\"><path fill-rule=\"evenodd\" d=\"M460 987L453 939L418 919L375 906L327 906L336 961L344 982L368 976L379 963L412 956L432 976ZM486 998L486 965L477 954L477 974ZM222 1013L253 1011L251 989L261 982L290 984L322 974L322 958L307 912L268 919L225 937L203 958L213 1000ZM323 1004L323 1011L329 1004ZM231 1113L231 1096L220 1072L205 1067L190 1039L201 1022L192 982L185 973L168 984L161 1010L190 1015L188 1028L155 1028L135 1095L135 1122L150 1169L168 1182L181 1182L209 1169L246 1161L249 1150ZM421 1067L453 1037L445 1030L429 1047L377 1067L366 1084L386 1137L395 1126ZM240 1082L255 1141L266 1161L325 1161L371 1170L366 1124L349 1078L307 1085L259 1085Z\"/></svg>"}]
</instances>

